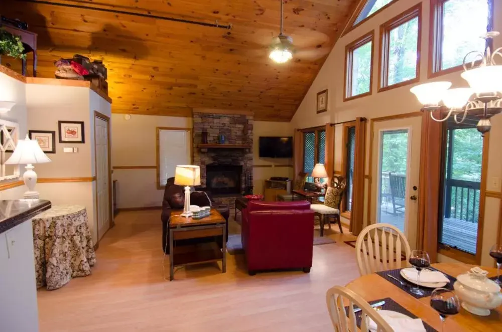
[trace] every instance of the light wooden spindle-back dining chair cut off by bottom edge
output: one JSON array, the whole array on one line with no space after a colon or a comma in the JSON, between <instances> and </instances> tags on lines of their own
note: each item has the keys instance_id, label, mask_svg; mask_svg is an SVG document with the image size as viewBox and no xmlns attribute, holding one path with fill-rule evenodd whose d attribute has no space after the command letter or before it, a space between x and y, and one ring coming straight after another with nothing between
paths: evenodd
<instances>
[{"instance_id":1,"label":"light wooden spindle-back dining chair cut off by bottom edge","mask_svg":"<svg viewBox=\"0 0 502 332\"><path fill-rule=\"evenodd\" d=\"M344 301L345 299L345 301ZM369 331L369 319L373 320L377 326L377 332L393 332L392 327L382 316L373 309L368 302L348 288L335 286L326 292L326 305L328 306L331 322L336 332L356 332L357 323L354 313L354 305L361 308L361 332ZM345 311L345 305L348 306Z\"/></svg>"}]
</instances>

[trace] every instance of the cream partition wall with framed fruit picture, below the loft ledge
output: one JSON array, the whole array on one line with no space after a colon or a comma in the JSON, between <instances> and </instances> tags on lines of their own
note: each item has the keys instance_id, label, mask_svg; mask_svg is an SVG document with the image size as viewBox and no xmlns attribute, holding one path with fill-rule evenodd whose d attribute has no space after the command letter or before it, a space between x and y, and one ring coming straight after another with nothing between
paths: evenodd
<instances>
[{"instance_id":1,"label":"cream partition wall with framed fruit picture, below the loft ledge","mask_svg":"<svg viewBox=\"0 0 502 332\"><path fill-rule=\"evenodd\" d=\"M56 132L56 153L48 153L52 162L35 165L39 178L92 178L96 175L94 160L94 111L111 116L110 104L87 87L52 84L27 84L26 106L28 129ZM85 142L59 143L58 121L84 121ZM63 152L64 147L78 147L76 153ZM40 198L53 205L77 204L87 209L93 243L97 243L95 181L39 183Z\"/></svg>"}]
</instances>

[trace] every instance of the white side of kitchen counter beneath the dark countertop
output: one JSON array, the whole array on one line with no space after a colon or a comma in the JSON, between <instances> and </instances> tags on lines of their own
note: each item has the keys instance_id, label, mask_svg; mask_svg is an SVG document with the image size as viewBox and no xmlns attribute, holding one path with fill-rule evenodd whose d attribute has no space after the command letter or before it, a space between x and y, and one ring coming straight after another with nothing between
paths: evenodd
<instances>
[{"instance_id":1,"label":"white side of kitchen counter beneath the dark countertop","mask_svg":"<svg viewBox=\"0 0 502 332\"><path fill-rule=\"evenodd\" d=\"M9 250L8 250L9 237ZM12 244L14 241L14 244ZM0 234L0 329L38 331L32 221Z\"/></svg>"}]
</instances>

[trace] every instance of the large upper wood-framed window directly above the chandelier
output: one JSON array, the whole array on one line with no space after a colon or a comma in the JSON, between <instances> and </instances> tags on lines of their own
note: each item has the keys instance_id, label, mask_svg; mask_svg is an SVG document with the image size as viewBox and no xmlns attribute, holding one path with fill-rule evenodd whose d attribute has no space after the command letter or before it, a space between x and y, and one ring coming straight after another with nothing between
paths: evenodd
<instances>
[{"instance_id":1,"label":"large upper wood-framed window directly above the chandelier","mask_svg":"<svg viewBox=\"0 0 502 332\"><path fill-rule=\"evenodd\" d=\"M430 18L429 78L461 70L491 42L479 37L492 29L492 0L431 0Z\"/></svg>"}]
</instances>

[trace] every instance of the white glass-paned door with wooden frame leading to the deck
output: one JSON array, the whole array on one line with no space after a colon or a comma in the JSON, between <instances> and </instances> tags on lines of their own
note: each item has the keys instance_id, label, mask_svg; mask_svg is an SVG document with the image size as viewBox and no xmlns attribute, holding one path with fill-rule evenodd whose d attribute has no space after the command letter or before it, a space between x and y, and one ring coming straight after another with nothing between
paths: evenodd
<instances>
[{"instance_id":1,"label":"white glass-paned door with wooden frame leading to the deck","mask_svg":"<svg viewBox=\"0 0 502 332\"><path fill-rule=\"evenodd\" d=\"M373 123L370 224L398 227L417 246L422 117Z\"/></svg>"}]
</instances>

